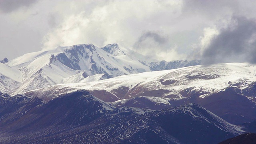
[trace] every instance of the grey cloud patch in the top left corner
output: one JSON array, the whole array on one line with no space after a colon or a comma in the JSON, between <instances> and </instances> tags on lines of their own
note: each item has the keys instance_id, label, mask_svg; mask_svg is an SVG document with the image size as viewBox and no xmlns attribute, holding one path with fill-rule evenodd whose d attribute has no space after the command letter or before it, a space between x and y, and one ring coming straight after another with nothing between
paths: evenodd
<instances>
[{"instance_id":1,"label":"grey cloud patch in the top left corner","mask_svg":"<svg viewBox=\"0 0 256 144\"><path fill-rule=\"evenodd\" d=\"M2 13L10 13L18 10L20 7L29 7L36 3L36 0L1 0L0 7Z\"/></svg>"}]
</instances>

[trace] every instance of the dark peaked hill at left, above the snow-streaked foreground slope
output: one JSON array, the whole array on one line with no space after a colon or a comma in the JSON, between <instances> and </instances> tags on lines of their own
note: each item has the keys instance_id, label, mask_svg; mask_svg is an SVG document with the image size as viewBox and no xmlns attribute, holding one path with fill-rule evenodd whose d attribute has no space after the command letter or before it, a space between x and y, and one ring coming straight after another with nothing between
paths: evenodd
<instances>
[{"instance_id":1,"label":"dark peaked hill at left, above the snow-streaked foreground slope","mask_svg":"<svg viewBox=\"0 0 256 144\"><path fill-rule=\"evenodd\" d=\"M78 90L71 94L55 98L48 103L43 101L40 105L33 104L31 102L33 99L41 100L40 98L33 98L26 95L16 95L6 99L6 105L1 109L1 116L15 114L15 111L20 111L20 109L24 109L26 112L24 112L18 119L16 118L13 120L14 124L7 125L3 123L1 126L8 129L18 127L24 128L25 130L27 128L36 128L36 130L38 130L59 126L65 129L67 128L65 126L86 124L102 114L105 114L109 110L114 109L83 90ZM27 108L28 106L31 106L31 108ZM10 109L10 107L14 110ZM22 113L22 111L19 113ZM7 120L9 119L10 118ZM1 123L5 121L6 118L4 117L2 118Z\"/></svg>"}]
</instances>

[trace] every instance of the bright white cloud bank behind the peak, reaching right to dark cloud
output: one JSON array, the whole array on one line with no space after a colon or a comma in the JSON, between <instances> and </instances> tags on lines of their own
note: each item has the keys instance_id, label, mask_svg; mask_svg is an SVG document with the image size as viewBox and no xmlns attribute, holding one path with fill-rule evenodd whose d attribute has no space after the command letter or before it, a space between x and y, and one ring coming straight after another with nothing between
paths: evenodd
<instances>
[{"instance_id":1,"label":"bright white cloud bank behind the peak, reaching right to dark cloud","mask_svg":"<svg viewBox=\"0 0 256 144\"><path fill-rule=\"evenodd\" d=\"M247 3L241 5L248 7ZM230 24L232 14L245 13L239 4L226 1L110 1L100 5L86 3L84 6L90 10L85 10L81 3L73 2L72 7L78 8L80 13L65 13L59 25L54 22L56 16L49 15L49 25L56 28L44 36L42 44L44 49L49 49L84 43L99 47L118 43L158 60L206 58L206 50L216 36L227 27L235 26ZM195 43L199 45L192 50Z\"/></svg>"}]
</instances>

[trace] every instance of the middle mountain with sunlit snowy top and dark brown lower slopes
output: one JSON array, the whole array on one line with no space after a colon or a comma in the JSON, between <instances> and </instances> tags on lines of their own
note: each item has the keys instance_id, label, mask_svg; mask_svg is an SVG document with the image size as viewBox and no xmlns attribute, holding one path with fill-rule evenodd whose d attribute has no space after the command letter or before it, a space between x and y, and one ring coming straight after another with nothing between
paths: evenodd
<instances>
[{"instance_id":1,"label":"middle mountain with sunlit snowy top and dark brown lower slopes","mask_svg":"<svg viewBox=\"0 0 256 144\"><path fill-rule=\"evenodd\" d=\"M153 105L157 105L157 99L154 98L140 100L145 96L154 96L164 98L162 101L168 101L170 106L194 102L206 107L228 122L241 124L251 122L256 117L254 113L256 104L255 74L255 64L201 65L130 74L79 84L58 84L32 90L27 94L49 101L62 94L85 89L94 92L94 96L105 102L120 100L116 104L140 108L146 108L142 106L147 104L140 103L148 100L154 101ZM144 97L132 99L137 96ZM138 102L136 103L134 100ZM128 104L129 102L130 104ZM114 106L118 105L114 104ZM240 108L236 108L236 106Z\"/></svg>"}]
</instances>

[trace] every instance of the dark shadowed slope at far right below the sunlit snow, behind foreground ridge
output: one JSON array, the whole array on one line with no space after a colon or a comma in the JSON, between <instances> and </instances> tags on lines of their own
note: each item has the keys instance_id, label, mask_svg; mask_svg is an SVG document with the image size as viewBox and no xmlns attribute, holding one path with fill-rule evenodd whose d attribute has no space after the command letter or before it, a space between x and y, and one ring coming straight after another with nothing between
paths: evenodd
<instances>
[{"instance_id":1,"label":"dark shadowed slope at far right below the sunlit snow, behind foreground ridge","mask_svg":"<svg viewBox=\"0 0 256 144\"><path fill-rule=\"evenodd\" d=\"M232 124L242 124L244 122L252 122L256 118L255 102L237 94L231 88L212 94L206 98L198 98L192 95L182 100L169 100L172 106L180 104L196 103L204 106L217 116Z\"/></svg>"}]
</instances>

